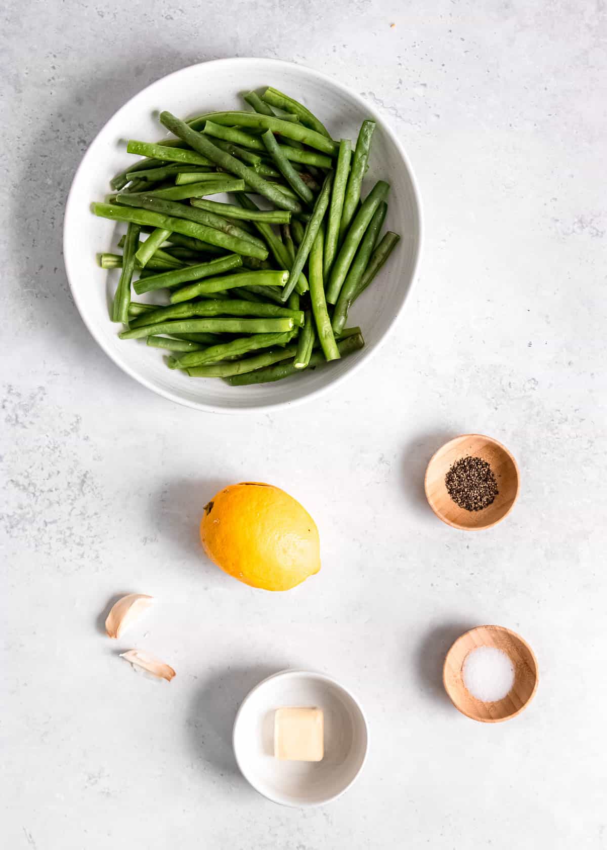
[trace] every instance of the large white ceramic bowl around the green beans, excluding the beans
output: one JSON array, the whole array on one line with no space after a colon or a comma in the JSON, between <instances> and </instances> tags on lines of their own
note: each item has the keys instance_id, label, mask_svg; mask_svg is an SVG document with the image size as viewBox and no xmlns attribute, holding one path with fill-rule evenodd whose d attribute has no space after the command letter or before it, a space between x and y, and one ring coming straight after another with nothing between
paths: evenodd
<instances>
[{"instance_id":1,"label":"large white ceramic bowl around the green beans, excluding the beans","mask_svg":"<svg viewBox=\"0 0 607 850\"><path fill-rule=\"evenodd\" d=\"M274 85L316 112L333 138L355 141L360 122L377 122L369 171L363 192L379 178L391 184L387 227L402 239L377 280L351 310L349 325L360 325L366 346L343 360L283 381L251 387L230 387L213 378L191 378L167 369L162 351L140 341L122 342L118 326L108 318L118 273L108 274L95 261L97 252L116 250L124 227L90 211L101 201L110 178L128 164L125 139L157 141L165 133L157 111L193 116L212 110L242 109L239 93ZM420 207L399 140L383 118L342 83L302 65L275 59L217 59L191 65L152 83L116 112L88 148L77 170L65 210L65 269L77 308L101 348L129 375L167 399L202 411L259 411L310 399L352 374L377 349L389 331L415 274L421 241ZM166 353L165 353L166 354Z\"/></svg>"}]
</instances>

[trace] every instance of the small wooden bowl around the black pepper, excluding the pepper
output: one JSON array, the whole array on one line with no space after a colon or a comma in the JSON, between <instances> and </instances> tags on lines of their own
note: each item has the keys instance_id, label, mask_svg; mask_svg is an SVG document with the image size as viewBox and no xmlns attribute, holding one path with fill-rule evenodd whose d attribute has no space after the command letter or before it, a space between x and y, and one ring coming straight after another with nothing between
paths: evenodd
<instances>
[{"instance_id":1,"label":"small wooden bowl around the black pepper, excluding the pepper","mask_svg":"<svg viewBox=\"0 0 607 850\"><path fill-rule=\"evenodd\" d=\"M496 477L499 490L495 501L482 511L467 511L458 507L447 492L445 475L456 461L467 455L482 457ZM491 528L513 509L519 496L519 467L508 449L496 439L481 433L464 433L432 456L424 480L428 504L439 519L454 529L475 531Z\"/></svg>"}]
</instances>

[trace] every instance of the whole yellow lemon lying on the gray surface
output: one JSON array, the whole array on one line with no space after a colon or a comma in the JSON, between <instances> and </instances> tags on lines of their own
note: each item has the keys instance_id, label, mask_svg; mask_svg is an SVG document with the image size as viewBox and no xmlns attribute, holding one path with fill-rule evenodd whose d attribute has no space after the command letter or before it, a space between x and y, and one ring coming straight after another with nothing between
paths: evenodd
<instances>
[{"instance_id":1,"label":"whole yellow lemon lying on the gray surface","mask_svg":"<svg viewBox=\"0 0 607 850\"><path fill-rule=\"evenodd\" d=\"M251 587L289 590L321 569L314 519L271 484L220 490L204 509L201 541L218 567Z\"/></svg>"}]
</instances>

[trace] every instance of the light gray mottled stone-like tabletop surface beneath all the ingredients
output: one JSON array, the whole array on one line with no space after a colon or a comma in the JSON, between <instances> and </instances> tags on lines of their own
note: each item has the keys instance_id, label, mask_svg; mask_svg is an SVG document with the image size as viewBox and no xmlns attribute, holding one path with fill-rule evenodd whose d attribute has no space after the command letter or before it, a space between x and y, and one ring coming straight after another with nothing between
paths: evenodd
<instances>
[{"instance_id":1,"label":"light gray mottled stone-like tabletop surface beneath all the ingredients","mask_svg":"<svg viewBox=\"0 0 607 850\"><path fill-rule=\"evenodd\" d=\"M605 7L596 3L76 2L3 13L3 763L8 850L607 847ZM390 28L390 24L395 26ZM350 382L270 416L156 398L108 360L68 291L71 178L116 108L202 59L292 59L349 83L400 135L421 187L417 286ZM247 81L243 80L243 85ZM272 81L268 81L272 82ZM501 526L434 519L423 470L478 430L517 456ZM256 592L201 556L222 484L285 487L323 569ZM160 600L119 649L118 592ZM511 723L441 690L451 639L500 623L536 650ZM236 706L284 666L354 689L370 757L327 808L241 779Z\"/></svg>"}]
</instances>

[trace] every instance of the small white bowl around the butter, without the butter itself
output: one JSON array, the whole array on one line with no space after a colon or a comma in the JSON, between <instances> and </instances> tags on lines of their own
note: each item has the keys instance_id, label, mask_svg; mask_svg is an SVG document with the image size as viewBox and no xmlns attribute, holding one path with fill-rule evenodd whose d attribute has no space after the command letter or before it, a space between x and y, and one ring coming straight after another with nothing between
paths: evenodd
<instances>
[{"instance_id":1,"label":"small white bowl around the butter, without the butter itself","mask_svg":"<svg viewBox=\"0 0 607 850\"><path fill-rule=\"evenodd\" d=\"M321 708L325 757L286 762L274 757L274 712ZM355 781L366 759L368 731L355 696L322 673L284 670L252 689L234 722L234 755L255 791L282 806L311 807L335 800Z\"/></svg>"}]
</instances>

